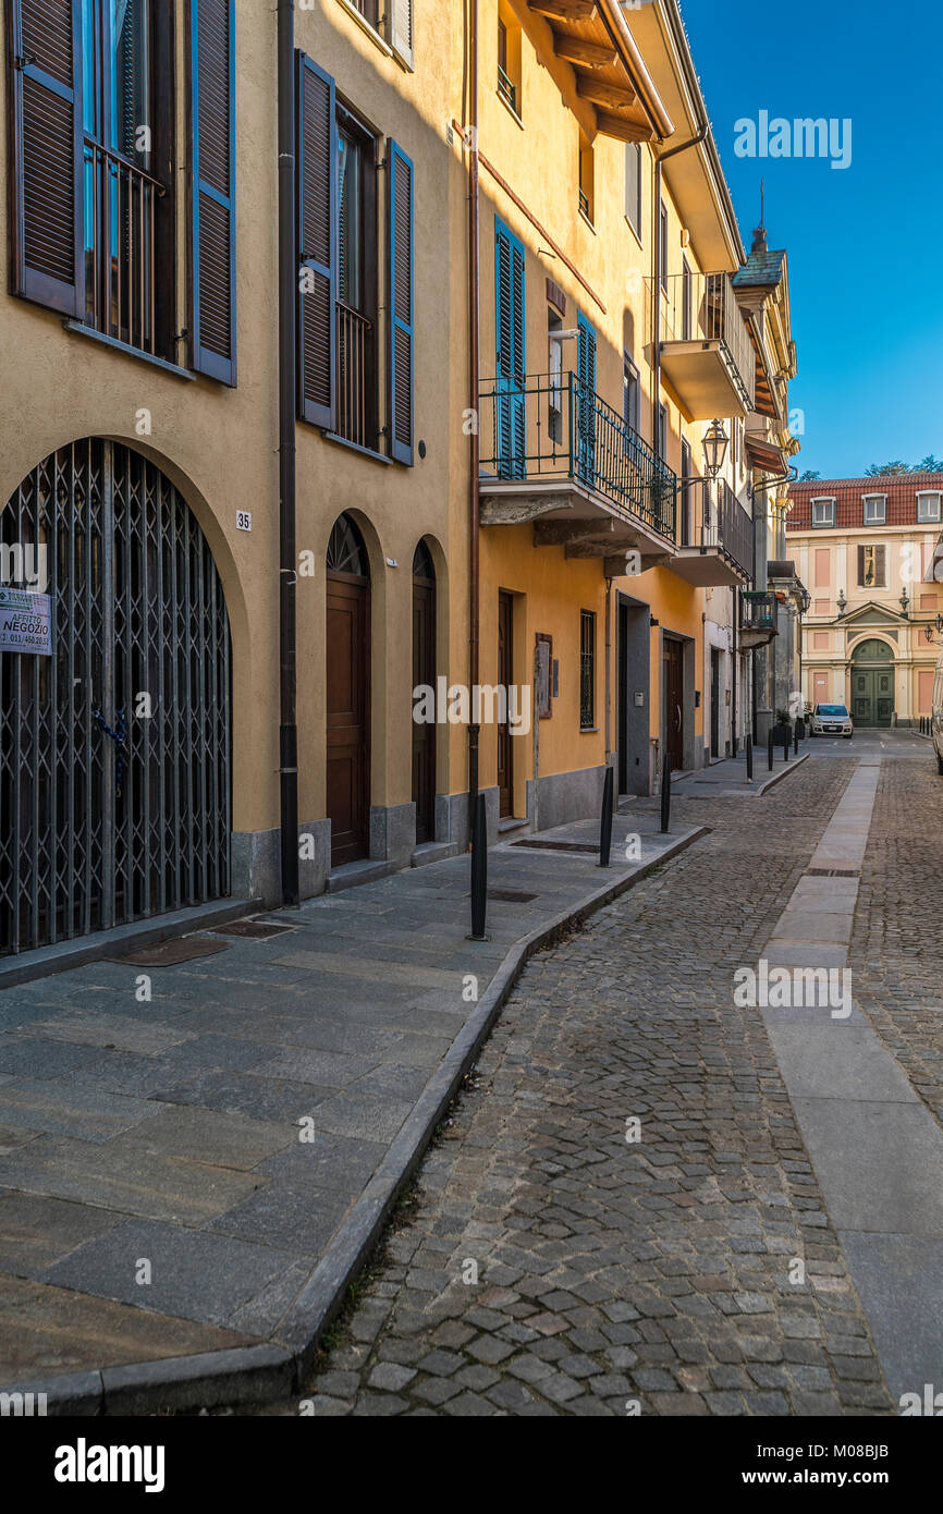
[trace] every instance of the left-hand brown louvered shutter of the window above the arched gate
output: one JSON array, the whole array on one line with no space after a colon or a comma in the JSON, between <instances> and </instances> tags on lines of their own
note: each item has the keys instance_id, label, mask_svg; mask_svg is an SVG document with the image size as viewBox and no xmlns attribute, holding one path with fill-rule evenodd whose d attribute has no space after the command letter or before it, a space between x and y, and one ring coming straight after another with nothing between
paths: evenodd
<instances>
[{"instance_id":1,"label":"left-hand brown louvered shutter of the window above the arched gate","mask_svg":"<svg viewBox=\"0 0 943 1514\"><path fill-rule=\"evenodd\" d=\"M12 286L82 316L82 71L79 5L11 0Z\"/></svg>"}]
</instances>

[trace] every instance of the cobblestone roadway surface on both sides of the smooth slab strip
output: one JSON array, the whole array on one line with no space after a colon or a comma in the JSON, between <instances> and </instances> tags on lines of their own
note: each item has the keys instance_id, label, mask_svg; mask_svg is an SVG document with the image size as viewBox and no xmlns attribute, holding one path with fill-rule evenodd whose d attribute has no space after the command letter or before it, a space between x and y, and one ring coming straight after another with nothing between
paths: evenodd
<instances>
[{"instance_id":1,"label":"cobblestone roadway surface on both sides of the smooth slab strip","mask_svg":"<svg viewBox=\"0 0 943 1514\"><path fill-rule=\"evenodd\" d=\"M733 1002L857 766L817 757L760 802L678 802L711 834L528 966L335 1329L315 1414L895 1413L763 1019ZM908 1007L928 1004L929 774L882 765L855 952L938 1113L934 1013Z\"/></svg>"}]
</instances>

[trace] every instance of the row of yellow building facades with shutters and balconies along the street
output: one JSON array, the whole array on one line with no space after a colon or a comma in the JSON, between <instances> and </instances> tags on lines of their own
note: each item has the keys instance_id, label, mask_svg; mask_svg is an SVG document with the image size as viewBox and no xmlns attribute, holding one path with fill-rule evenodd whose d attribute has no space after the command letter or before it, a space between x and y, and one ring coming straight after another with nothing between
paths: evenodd
<instances>
[{"instance_id":1,"label":"row of yellow building facades with shutters and balconies along the street","mask_svg":"<svg viewBox=\"0 0 943 1514\"><path fill-rule=\"evenodd\" d=\"M6 15L0 955L736 749L758 348L675 0Z\"/></svg>"}]
</instances>

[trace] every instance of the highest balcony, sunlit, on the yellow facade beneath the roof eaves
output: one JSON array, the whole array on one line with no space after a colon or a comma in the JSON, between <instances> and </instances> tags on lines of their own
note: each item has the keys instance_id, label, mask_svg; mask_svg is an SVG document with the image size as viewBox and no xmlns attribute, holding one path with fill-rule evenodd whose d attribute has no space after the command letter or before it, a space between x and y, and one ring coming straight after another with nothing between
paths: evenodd
<instances>
[{"instance_id":1,"label":"highest balcony, sunlit, on the yellow facade beneath the roof eaves","mask_svg":"<svg viewBox=\"0 0 943 1514\"><path fill-rule=\"evenodd\" d=\"M661 371L690 419L749 415L757 357L730 274L671 274L646 289L658 306Z\"/></svg>"}]
</instances>

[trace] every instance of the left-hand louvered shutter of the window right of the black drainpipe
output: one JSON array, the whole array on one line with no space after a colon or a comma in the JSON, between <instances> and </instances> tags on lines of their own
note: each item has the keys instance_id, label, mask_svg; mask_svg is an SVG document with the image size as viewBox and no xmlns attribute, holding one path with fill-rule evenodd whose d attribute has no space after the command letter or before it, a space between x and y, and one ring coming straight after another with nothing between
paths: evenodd
<instances>
[{"instance_id":1,"label":"left-hand louvered shutter of the window right of the black drainpipe","mask_svg":"<svg viewBox=\"0 0 943 1514\"><path fill-rule=\"evenodd\" d=\"M298 415L336 427L338 114L335 80L298 53Z\"/></svg>"}]
</instances>

